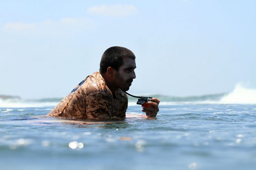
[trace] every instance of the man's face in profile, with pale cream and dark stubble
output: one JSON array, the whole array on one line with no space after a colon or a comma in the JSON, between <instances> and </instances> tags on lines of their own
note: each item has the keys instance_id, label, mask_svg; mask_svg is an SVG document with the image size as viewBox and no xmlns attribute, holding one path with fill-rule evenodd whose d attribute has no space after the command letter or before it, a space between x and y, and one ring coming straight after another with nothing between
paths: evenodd
<instances>
[{"instance_id":1,"label":"man's face in profile, with pale cream and dark stubble","mask_svg":"<svg viewBox=\"0 0 256 170\"><path fill-rule=\"evenodd\" d=\"M124 58L124 63L115 74L115 84L123 91L128 91L135 75L136 63L131 58Z\"/></svg>"}]
</instances>

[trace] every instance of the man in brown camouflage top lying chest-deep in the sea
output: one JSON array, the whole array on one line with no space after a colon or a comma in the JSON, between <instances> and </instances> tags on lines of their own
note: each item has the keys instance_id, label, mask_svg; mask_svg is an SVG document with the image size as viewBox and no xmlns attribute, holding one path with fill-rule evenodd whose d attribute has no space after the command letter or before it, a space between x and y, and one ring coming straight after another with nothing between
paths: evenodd
<instances>
[{"instance_id":1,"label":"man in brown camouflage top lying chest-deep in the sea","mask_svg":"<svg viewBox=\"0 0 256 170\"><path fill-rule=\"evenodd\" d=\"M108 119L125 117L128 91L135 75L135 55L124 47L110 47L102 55L100 72L85 78L48 114L58 117ZM159 100L143 107L146 117L156 117Z\"/></svg>"}]
</instances>

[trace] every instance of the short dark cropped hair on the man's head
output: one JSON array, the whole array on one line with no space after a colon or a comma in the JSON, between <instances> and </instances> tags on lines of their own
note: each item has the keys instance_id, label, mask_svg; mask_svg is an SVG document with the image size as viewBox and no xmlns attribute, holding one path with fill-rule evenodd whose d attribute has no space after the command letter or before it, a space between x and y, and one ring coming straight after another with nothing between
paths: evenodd
<instances>
[{"instance_id":1,"label":"short dark cropped hair on the man's head","mask_svg":"<svg viewBox=\"0 0 256 170\"><path fill-rule=\"evenodd\" d=\"M124 47L110 47L106 49L100 60L100 73L105 73L108 67L119 70L123 65L124 58L131 58L135 60L135 55L127 48Z\"/></svg>"}]
</instances>

